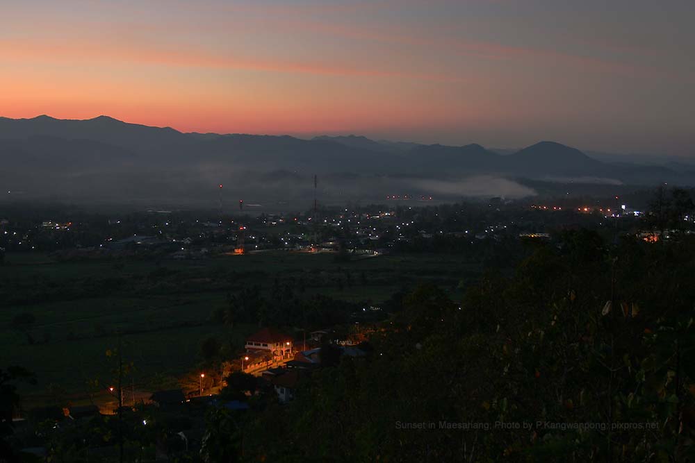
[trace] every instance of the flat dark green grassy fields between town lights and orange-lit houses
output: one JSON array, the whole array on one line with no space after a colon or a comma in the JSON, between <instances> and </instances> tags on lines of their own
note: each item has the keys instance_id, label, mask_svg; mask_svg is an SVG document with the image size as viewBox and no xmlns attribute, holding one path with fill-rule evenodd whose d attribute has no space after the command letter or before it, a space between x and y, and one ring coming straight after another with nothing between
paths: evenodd
<instances>
[{"instance_id":1,"label":"flat dark green grassy fields between town lights and orange-lit houses","mask_svg":"<svg viewBox=\"0 0 695 463\"><path fill-rule=\"evenodd\" d=\"M453 255L383 255L336 262L329 253L257 253L206 260L99 260L58 262L48 255L9 254L0 267L0 367L19 364L37 374L30 394L62 389L78 394L85 382L106 378L105 352L117 346L136 365L139 382L177 376L199 362L213 336L243 345L253 326L211 321L227 294L275 280L302 280L305 295L325 294L378 305L402 287L432 281L458 297L459 280L480 272ZM18 326L21 314L33 321Z\"/></svg>"}]
</instances>

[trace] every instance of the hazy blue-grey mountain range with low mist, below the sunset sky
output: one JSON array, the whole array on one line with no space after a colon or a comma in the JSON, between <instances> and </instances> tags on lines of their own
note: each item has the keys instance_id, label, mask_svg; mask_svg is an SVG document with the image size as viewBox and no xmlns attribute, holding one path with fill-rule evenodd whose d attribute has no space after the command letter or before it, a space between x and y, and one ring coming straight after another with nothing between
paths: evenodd
<instances>
[{"instance_id":1,"label":"hazy blue-grey mountain range with low mist, below the sunset sky","mask_svg":"<svg viewBox=\"0 0 695 463\"><path fill-rule=\"evenodd\" d=\"M557 142L513 153L366 137L181 133L112 117L0 117L0 187L26 198L206 201L214 186L263 201L313 194L525 196L524 180L557 185L695 185L695 168L604 162ZM503 181L502 181L503 180ZM487 185L487 188L481 187ZM473 186L472 186L473 185ZM229 190L227 190L229 188Z\"/></svg>"}]
</instances>

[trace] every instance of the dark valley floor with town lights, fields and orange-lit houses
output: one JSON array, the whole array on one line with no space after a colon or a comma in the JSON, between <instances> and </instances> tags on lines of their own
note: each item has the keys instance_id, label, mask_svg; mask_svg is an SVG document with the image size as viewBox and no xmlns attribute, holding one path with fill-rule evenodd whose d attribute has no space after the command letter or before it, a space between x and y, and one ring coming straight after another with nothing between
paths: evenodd
<instances>
[{"instance_id":1,"label":"dark valley floor with town lights, fields and orange-lit houses","mask_svg":"<svg viewBox=\"0 0 695 463\"><path fill-rule=\"evenodd\" d=\"M692 202L664 191L663 217L653 191L293 214L7 208L3 339L22 347L0 360L26 366L2 372L22 394L13 441L38 458L55 446L107 460L206 455L214 426L236 423L243 440L240 422L306 400L325 371L393 358L406 320L432 297L457 314L484 267L512 276L534 249L582 233L681 242ZM96 423L101 434L70 444Z\"/></svg>"}]
</instances>

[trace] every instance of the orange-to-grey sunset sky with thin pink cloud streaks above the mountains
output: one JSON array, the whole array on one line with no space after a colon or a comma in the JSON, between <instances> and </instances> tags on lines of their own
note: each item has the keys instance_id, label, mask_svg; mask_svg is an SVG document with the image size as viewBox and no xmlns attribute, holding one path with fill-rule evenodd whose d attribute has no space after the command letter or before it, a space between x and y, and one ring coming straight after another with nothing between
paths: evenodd
<instances>
[{"instance_id":1,"label":"orange-to-grey sunset sky with thin pink cloud streaks above the mountains","mask_svg":"<svg viewBox=\"0 0 695 463\"><path fill-rule=\"evenodd\" d=\"M0 116L695 157L692 0L0 0Z\"/></svg>"}]
</instances>

